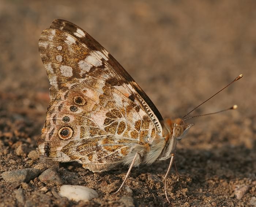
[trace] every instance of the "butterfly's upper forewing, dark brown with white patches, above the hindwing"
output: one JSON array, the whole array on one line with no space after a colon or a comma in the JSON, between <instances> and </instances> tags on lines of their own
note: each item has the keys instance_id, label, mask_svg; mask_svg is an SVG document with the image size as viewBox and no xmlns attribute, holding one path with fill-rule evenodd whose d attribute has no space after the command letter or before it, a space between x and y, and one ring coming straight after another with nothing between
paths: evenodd
<instances>
[{"instance_id":1,"label":"butterfly's upper forewing, dark brown with white patches, above the hindwing","mask_svg":"<svg viewBox=\"0 0 256 207\"><path fill-rule=\"evenodd\" d=\"M130 99L142 104L143 110L161 133L160 122L163 118L146 93L113 56L80 27L65 20L54 20L50 29L41 34L39 53L52 85L51 101L54 100L54 92L67 81L84 77L85 74L92 75L129 91Z\"/></svg>"}]
</instances>

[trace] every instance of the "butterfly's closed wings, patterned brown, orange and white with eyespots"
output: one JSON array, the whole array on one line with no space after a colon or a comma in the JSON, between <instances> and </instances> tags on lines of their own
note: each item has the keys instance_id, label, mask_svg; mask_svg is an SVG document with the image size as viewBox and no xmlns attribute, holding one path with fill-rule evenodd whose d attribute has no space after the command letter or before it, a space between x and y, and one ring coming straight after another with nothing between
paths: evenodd
<instances>
[{"instance_id":1,"label":"butterfly's closed wings, patterned brown, orange and white with eyespots","mask_svg":"<svg viewBox=\"0 0 256 207\"><path fill-rule=\"evenodd\" d=\"M50 104L39 152L92 171L122 162L162 134L162 116L132 77L78 26L54 20L39 39Z\"/></svg>"}]
</instances>

